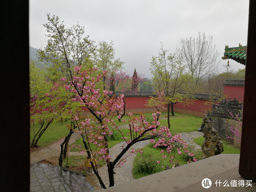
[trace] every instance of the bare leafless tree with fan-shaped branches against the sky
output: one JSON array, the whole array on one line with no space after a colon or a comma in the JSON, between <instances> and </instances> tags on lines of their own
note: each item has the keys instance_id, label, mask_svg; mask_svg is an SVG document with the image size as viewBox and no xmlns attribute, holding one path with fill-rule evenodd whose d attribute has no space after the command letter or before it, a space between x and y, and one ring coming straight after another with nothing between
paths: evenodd
<instances>
[{"instance_id":1,"label":"bare leafless tree with fan-shaped branches against the sky","mask_svg":"<svg viewBox=\"0 0 256 192\"><path fill-rule=\"evenodd\" d=\"M181 39L177 44L176 52L179 57L182 57L183 65L191 72L193 82L196 85L198 81L212 73L216 68L216 60L219 56L215 45L212 45L212 36L209 40L206 39L205 34L198 33L197 39Z\"/></svg>"}]
</instances>

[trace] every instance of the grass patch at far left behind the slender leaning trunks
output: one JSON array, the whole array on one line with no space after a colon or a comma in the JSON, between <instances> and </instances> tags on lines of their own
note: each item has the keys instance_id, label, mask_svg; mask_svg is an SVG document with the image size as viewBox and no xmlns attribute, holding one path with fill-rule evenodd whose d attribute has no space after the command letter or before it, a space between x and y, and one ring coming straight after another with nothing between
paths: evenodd
<instances>
[{"instance_id":1,"label":"grass patch at far left behind the slender leaning trunks","mask_svg":"<svg viewBox=\"0 0 256 192\"><path fill-rule=\"evenodd\" d=\"M46 124L47 123L45 122L44 127L46 126ZM39 147L46 147L52 144L54 141L60 140L61 138L66 137L69 132L68 128L66 127L67 124L68 122L65 122L65 121L63 122L63 124L61 124L61 122L56 122L55 124L51 123L49 127L46 129L46 131L44 132L44 134L41 136L41 138L38 140L37 145ZM41 127L40 123L34 125L35 134L40 129L40 127ZM30 125L30 143L32 142L33 138L34 138L34 129L33 129L33 125Z\"/></svg>"}]
</instances>

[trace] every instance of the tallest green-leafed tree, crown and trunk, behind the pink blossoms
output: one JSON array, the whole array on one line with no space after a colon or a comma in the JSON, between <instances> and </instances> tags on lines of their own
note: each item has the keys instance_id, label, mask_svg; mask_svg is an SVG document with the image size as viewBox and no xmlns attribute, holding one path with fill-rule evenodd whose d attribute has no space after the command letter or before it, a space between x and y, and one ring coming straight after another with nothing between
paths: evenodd
<instances>
[{"instance_id":1,"label":"tallest green-leafed tree, crown and trunk, behind the pink blossoms","mask_svg":"<svg viewBox=\"0 0 256 192\"><path fill-rule=\"evenodd\" d=\"M47 46L44 48L44 50L40 49L40 51L38 51L39 60L43 61L46 65L49 65L47 68L47 80L56 85L58 84L56 82L59 81L60 77L67 78L67 81L65 82L76 80L73 78L77 74L77 72L74 71L74 67L83 69L93 68L92 55L96 50L96 46L94 45L95 42L90 40L89 36L84 35L84 27L80 26L78 23L73 25L71 28L66 28L63 21L60 21L58 16L51 16L50 14L47 14L47 20L48 22L44 24L44 27L48 32L48 35L46 35L48 37ZM94 75L96 76L96 74ZM91 74L91 77L94 75ZM65 83L63 80L62 83ZM65 86L68 87L73 85L66 83ZM69 134L61 144L60 161L63 160L62 156L64 144L64 158L66 156L69 138L71 137L73 130L76 128L73 123L74 115L79 112L79 110L76 111L76 106L73 106L70 104L70 102L68 102L68 100L76 98L72 98L72 96L74 96L72 95L73 93L67 92L67 90L58 89L58 97L57 95L54 95L54 92L47 93L50 96L46 97L46 99L56 99L56 103L52 103L52 101L50 102L49 100L49 104L51 103L52 107L59 106L58 103L65 103L60 110L57 111L57 109L55 109L54 113L56 113L56 117L68 114L67 119L70 120Z\"/></svg>"}]
</instances>

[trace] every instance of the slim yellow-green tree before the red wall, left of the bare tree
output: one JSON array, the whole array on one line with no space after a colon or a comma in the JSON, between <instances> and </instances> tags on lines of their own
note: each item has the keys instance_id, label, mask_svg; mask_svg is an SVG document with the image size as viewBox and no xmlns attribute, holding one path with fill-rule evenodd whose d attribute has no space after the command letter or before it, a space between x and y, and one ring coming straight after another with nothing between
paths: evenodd
<instances>
[{"instance_id":1,"label":"slim yellow-green tree before the red wall, left of the bare tree","mask_svg":"<svg viewBox=\"0 0 256 192\"><path fill-rule=\"evenodd\" d=\"M152 56L149 69L153 78L152 87L155 88L163 105L167 106L167 121L170 129L170 109L174 116L173 104L185 102L189 97L188 93L180 92L188 90L191 76L185 72L181 59L175 54L168 55L167 52L161 44L161 51L158 53L158 57Z\"/></svg>"}]
</instances>

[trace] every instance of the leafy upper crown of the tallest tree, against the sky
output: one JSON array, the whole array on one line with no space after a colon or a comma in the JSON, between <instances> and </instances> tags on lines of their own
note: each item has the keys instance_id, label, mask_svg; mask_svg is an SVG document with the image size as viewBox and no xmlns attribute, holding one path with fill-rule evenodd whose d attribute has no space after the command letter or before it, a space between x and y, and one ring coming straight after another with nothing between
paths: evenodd
<instances>
[{"instance_id":1,"label":"leafy upper crown of the tallest tree, against the sky","mask_svg":"<svg viewBox=\"0 0 256 192\"><path fill-rule=\"evenodd\" d=\"M38 51L38 58L48 68L51 80L67 77L73 80L74 66L92 68L91 54L95 51L94 41L84 36L84 27L78 23L66 28L58 16L47 14L48 23L43 26L48 32L47 46Z\"/></svg>"}]
</instances>

